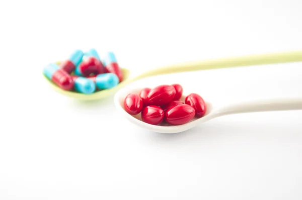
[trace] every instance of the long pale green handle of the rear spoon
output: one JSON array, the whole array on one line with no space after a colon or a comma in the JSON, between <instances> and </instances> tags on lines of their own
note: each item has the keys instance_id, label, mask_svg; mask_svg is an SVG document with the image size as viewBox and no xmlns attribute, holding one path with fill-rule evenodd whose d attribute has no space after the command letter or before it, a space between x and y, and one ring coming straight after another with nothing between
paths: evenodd
<instances>
[{"instance_id":1,"label":"long pale green handle of the rear spoon","mask_svg":"<svg viewBox=\"0 0 302 200\"><path fill-rule=\"evenodd\" d=\"M230 68L239 66L253 66L262 64L275 64L302 61L302 51L277 52L268 54L245 55L238 57L192 61L173 64L161 68L146 71L132 79L132 81L162 74L178 73L186 71L198 71L206 69Z\"/></svg>"}]
</instances>

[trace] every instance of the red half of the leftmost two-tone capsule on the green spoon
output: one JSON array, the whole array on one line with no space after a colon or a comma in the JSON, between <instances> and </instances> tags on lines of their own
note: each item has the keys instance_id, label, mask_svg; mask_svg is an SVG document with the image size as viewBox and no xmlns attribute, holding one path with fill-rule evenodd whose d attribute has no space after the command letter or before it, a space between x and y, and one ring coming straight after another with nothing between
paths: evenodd
<instances>
[{"instance_id":1,"label":"red half of the leftmost two-tone capsule on the green spoon","mask_svg":"<svg viewBox=\"0 0 302 200\"><path fill-rule=\"evenodd\" d=\"M56 70L52 74L51 80L64 90L71 90L74 85L72 77L63 69Z\"/></svg>"}]
</instances>

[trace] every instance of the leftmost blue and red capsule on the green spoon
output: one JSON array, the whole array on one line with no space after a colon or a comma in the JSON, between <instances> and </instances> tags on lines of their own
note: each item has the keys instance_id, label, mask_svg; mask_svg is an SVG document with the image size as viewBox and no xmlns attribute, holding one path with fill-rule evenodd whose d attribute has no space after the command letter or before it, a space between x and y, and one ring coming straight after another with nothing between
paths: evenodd
<instances>
[{"instance_id":1,"label":"leftmost blue and red capsule on the green spoon","mask_svg":"<svg viewBox=\"0 0 302 200\"><path fill-rule=\"evenodd\" d=\"M74 82L72 77L63 69L61 69L57 64L51 63L44 67L44 75L58 85L64 90L71 90L73 88Z\"/></svg>"}]
</instances>

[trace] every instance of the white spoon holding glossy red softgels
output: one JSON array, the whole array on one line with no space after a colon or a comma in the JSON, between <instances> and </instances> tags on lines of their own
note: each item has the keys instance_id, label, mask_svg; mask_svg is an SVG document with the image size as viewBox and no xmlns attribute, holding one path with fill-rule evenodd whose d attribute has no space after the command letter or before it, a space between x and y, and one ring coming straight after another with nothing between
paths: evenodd
<instances>
[{"instance_id":1,"label":"white spoon holding glossy red softgels","mask_svg":"<svg viewBox=\"0 0 302 200\"><path fill-rule=\"evenodd\" d=\"M139 93L141 88L138 89L121 89L114 96L114 103L117 110L126 117L131 123L158 133L179 133L189 130L199 124L202 124L211 119L240 113L253 113L253 112L267 112L267 111L289 111L289 110L302 110L302 97L297 98L274 98L274 99L260 99L250 102L240 102L223 106L220 108L213 107L210 103L206 102L207 112L199 119L193 119L187 124L172 126L172 125L151 125L141 121L140 114L136 116L129 115L124 110L124 98L129 93ZM181 100L183 101L185 96L183 95Z\"/></svg>"}]
</instances>

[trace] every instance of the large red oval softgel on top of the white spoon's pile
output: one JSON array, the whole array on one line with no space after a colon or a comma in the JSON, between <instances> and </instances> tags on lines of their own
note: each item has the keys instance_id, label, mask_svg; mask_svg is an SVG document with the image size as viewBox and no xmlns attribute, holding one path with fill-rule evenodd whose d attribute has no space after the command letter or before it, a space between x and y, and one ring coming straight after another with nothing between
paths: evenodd
<instances>
[{"instance_id":1,"label":"large red oval softgel on top of the white spoon's pile","mask_svg":"<svg viewBox=\"0 0 302 200\"><path fill-rule=\"evenodd\" d=\"M172 85L160 85L151 89L147 95L148 105L161 106L168 104L175 96L175 88Z\"/></svg>"}]
</instances>

